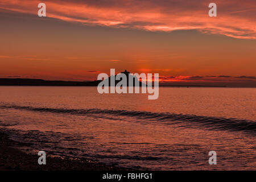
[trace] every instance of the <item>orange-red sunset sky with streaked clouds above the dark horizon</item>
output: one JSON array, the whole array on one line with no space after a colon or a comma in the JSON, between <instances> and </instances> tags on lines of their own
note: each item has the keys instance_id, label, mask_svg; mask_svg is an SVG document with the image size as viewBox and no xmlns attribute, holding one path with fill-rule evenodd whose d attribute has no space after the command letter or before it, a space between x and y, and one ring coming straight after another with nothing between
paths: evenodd
<instances>
[{"instance_id":1,"label":"orange-red sunset sky with streaked clouds above the dark horizon","mask_svg":"<svg viewBox=\"0 0 256 182\"><path fill-rule=\"evenodd\" d=\"M0 77L85 81L115 68L255 84L256 1L211 2L217 17L203 0L2 0Z\"/></svg>"}]
</instances>

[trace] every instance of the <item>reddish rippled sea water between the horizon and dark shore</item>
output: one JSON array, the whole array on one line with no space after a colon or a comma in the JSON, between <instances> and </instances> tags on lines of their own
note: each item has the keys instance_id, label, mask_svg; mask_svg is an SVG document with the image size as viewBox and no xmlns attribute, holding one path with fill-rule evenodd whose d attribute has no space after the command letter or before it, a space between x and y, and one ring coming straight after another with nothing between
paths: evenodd
<instances>
[{"instance_id":1,"label":"reddish rippled sea water between the horizon and dark shore","mask_svg":"<svg viewBox=\"0 0 256 182\"><path fill-rule=\"evenodd\" d=\"M256 89L0 86L0 128L30 151L139 169L256 169ZM208 152L217 152L217 165Z\"/></svg>"}]
</instances>

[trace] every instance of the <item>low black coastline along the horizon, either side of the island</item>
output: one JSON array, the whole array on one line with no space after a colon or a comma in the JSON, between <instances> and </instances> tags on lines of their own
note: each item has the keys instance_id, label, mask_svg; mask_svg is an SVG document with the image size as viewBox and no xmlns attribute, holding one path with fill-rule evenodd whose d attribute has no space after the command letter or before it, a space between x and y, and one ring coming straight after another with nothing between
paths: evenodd
<instances>
[{"instance_id":1,"label":"low black coastline along the horizon, either side of the island","mask_svg":"<svg viewBox=\"0 0 256 182\"><path fill-rule=\"evenodd\" d=\"M94 81L61 81L43 80L32 78L0 78L0 86L98 86L101 80ZM202 85L202 84L159 84L165 87L227 87L226 85Z\"/></svg>"}]
</instances>

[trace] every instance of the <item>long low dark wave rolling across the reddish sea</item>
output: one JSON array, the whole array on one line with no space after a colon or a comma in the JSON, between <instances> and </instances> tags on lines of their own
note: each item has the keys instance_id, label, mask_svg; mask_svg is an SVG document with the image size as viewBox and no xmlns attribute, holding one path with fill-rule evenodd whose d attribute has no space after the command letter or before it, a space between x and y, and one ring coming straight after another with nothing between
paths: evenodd
<instances>
[{"instance_id":1,"label":"long low dark wave rolling across the reddish sea","mask_svg":"<svg viewBox=\"0 0 256 182\"><path fill-rule=\"evenodd\" d=\"M225 118L225 117L208 117L203 115L192 114L175 114L175 113L154 113L150 111L133 111L133 110L108 110L108 109L56 109L46 107L31 107L17 105L0 105L0 109L20 109L28 111L61 113L61 114L97 114L97 115L121 115L136 118L136 122L154 122L158 121L162 125L180 124L180 127L201 126L210 130L230 130L246 131L256 134L256 121L248 119Z\"/></svg>"}]
</instances>

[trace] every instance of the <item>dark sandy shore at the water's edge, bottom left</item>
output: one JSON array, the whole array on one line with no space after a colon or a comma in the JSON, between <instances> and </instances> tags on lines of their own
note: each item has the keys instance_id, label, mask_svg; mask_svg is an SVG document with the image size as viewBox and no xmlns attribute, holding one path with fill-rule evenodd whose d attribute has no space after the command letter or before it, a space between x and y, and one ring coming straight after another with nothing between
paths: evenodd
<instances>
[{"instance_id":1,"label":"dark sandy shore at the water's edge, bottom left","mask_svg":"<svg viewBox=\"0 0 256 182\"><path fill-rule=\"evenodd\" d=\"M0 171L123 171L118 166L89 162L88 160L60 157L46 158L46 165L38 164L38 155L26 154L15 147L27 146L26 143L9 139L6 133L0 131Z\"/></svg>"}]
</instances>

